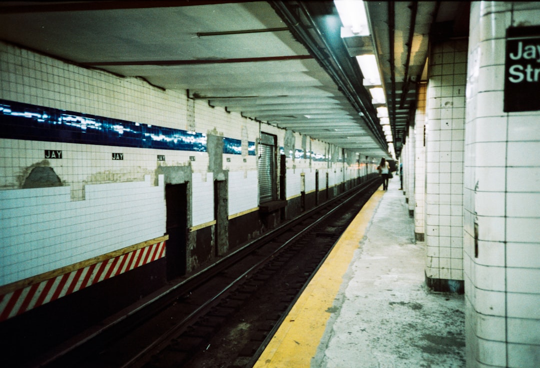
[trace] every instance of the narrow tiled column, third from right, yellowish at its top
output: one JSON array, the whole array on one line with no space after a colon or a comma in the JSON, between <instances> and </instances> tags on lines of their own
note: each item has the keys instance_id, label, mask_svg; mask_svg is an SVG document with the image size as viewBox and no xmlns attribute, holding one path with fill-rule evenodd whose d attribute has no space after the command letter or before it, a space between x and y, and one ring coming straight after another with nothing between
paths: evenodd
<instances>
[{"instance_id":1,"label":"narrow tiled column, third from right, yellowish at its top","mask_svg":"<svg viewBox=\"0 0 540 368\"><path fill-rule=\"evenodd\" d=\"M415 115L415 163L414 163L414 236L424 241L424 203L426 187L426 147L424 146L424 126L426 126L426 84L420 84L417 93Z\"/></svg>"}]
</instances>

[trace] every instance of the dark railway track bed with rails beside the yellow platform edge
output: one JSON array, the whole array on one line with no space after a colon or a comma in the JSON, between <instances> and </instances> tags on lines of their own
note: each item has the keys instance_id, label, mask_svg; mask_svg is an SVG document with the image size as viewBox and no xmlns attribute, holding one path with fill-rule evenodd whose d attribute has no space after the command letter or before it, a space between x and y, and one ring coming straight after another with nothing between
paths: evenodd
<instances>
[{"instance_id":1,"label":"dark railway track bed with rails beside the yellow platform edge","mask_svg":"<svg viewBox=\"0 0 540 368\"><path fill-rule=\"evenodd\" d=\"M379 187L363 183L29 366L251 367Z\"/></svg>"}]
</instances>

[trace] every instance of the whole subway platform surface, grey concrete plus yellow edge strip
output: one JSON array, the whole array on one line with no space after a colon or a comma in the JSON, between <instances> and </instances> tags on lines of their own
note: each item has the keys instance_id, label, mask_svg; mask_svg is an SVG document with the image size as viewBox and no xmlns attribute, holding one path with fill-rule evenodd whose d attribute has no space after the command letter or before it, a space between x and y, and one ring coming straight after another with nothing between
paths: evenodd
<instances>
[{"instance_id":1,"label":"whole subway platform surface, grey concrete plus yellow edge strip","mask_svg":"<svg viewBox=\"0 0 540 368\"><path fill-rule=\"evenodd\" d=\"M399 185L362 208L255 368L465 366L463 295L426 287Z\"/></svg>"}]
</instances>

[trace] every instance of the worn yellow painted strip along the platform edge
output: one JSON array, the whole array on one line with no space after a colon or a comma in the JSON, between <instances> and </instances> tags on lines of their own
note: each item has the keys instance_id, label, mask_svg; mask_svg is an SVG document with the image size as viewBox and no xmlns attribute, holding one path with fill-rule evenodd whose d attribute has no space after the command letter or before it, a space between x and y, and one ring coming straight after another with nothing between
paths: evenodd
<instances>
[{"instance_id":1,"label":"worn yellow painted strip along the platform edge","mask_svg":"<svg viewBox=\"0 0 540 368\"><path fill-rule=\"evenodd\" d=\"M384 192L377 190L340 237L253 368L309 368L354 251Z\"/></svg>"}]
</instances>

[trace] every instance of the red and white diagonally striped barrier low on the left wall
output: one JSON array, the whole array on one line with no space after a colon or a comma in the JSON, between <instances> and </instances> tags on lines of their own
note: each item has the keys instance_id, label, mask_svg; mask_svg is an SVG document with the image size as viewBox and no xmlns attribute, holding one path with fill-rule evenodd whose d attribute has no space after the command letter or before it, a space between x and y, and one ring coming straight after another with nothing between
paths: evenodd
<instances>
[{"instance_id":1,"label":"red and white diagonally striped barrier low on the left wall","mask_svg":"<svg viewBox=\"0 0 540 368\"><path fill-rule=\"evenodd\" d=\"M165 241L0 295L0 322L165 256Z\"/></svg>"}]
</instances>

